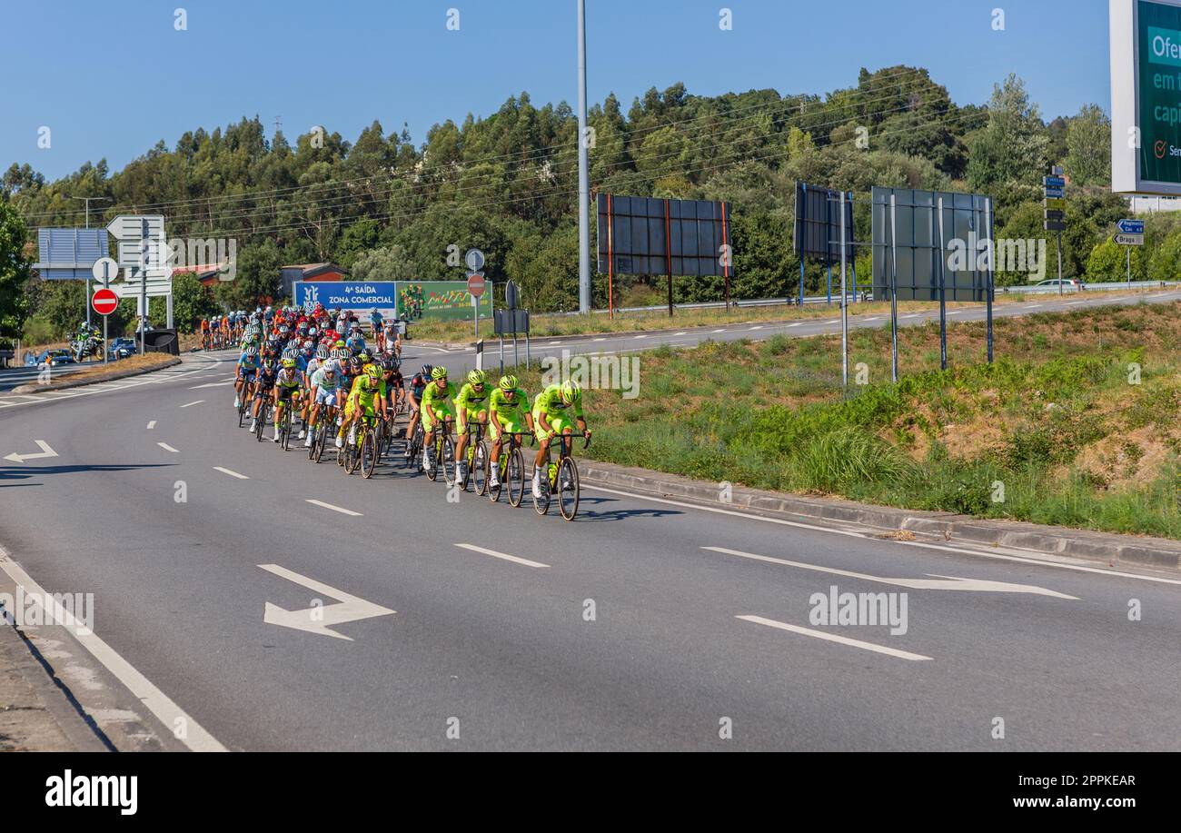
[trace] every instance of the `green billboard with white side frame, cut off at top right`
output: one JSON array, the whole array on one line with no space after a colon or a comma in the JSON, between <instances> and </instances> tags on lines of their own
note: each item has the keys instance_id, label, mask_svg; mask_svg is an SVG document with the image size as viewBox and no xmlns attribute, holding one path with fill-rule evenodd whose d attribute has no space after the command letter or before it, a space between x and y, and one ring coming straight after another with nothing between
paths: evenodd
<instances>
[{"instance_id":1,"label":"green billboard with white side frame, cut off at top right","mask_svg":"<svg viewBox=\"0 0 1181 833\"><path fill-rule=\"evenodd\" d=\"M1181 194L1181 0L1109 0L1111 190Z\"/></svg>"}]
</instances>

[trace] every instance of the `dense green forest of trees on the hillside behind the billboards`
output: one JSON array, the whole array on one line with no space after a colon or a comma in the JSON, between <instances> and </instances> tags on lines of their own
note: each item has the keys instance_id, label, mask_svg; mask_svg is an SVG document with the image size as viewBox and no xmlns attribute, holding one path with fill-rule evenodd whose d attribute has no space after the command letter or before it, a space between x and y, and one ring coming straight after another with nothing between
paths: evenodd
<instances>
[{"instance_id":1,"label":"dense green forest of trees on the hillside behind the billboards","mask_svg":"<svg viewBox=\"0 0 1181 833\"><path fill-rule=\"evenodd\" d=\"M1046 123L1016 77L1000 80L986 105L966 106L926 70L906 66L862 70L854 86L827 96L752 90L707 97L676 84L650 90L626 111L609 96L590 110L589 125L593 194L733 204L738 298L798 291L797 180L861 199L873 186L991 194L998 236L1025 239L1046 236L1040 178L1063 164L1071 183L1066 274L1085 274L1095 258L1107 268L1103 240L1127 213L1108 188L1103 111L1088 105ZM27 163L13 163L0 180L0 241L5 234L32 241L39 226L81 224L80 203L71 199L79 195L109 197L98 203L105 217L163 213L170 237L239 241L237 278L217 286L215 298L197 292L187 307L195 314L274 295L282 263L331 260L365 279L462 278L446 263L452 245L482 248L489 278L515 280L535 311L578 306L578 118L566 103L536 108L526 92L488 118L437 124L418 145L405 129L386 132L378 122L354 142L324 129L292 143L282 132L268 138L254 117L188 132L171 149L161 141L120 171L103 160L46 182ZM868 239L867 206L855 224L859 239ZM1175 276L1181 241L1173 234L1163 221L1150 230L1137 258L1141 274ZM868 256L859 274L869 273ZM0 261L0 288L26 287L13 293L11 308L0 299L0 336L37 323L58 326L58 315L83 308L80 284L30 280L27 258L19 261ZM998 275L1001 284L1025 279ZM661 281L616 279L616 304L648 301ZM820 287L820 265L809 266L805 281L810 291ZM674 282L678 300L720 293L720 278ZM596 306L606 306L606 278L596 276Z\"/></svg>"}]
</instances>

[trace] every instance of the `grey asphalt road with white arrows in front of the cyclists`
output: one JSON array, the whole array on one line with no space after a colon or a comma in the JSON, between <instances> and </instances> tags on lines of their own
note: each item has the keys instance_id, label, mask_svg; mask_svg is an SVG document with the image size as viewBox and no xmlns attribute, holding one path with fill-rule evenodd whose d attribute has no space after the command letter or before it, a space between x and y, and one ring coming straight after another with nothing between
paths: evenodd
<instances>
[{"instance_id":1,"label":"grey asphalt road with white arrows in front of the cyclists","mask_svg":"<svg viewBox=\"0 0 1181 833\"><path fill-rule=\"evenodd\" d=\"M256 442L231 371L0 406L0 457L57 455L0 463L0 545L224 748L1181 749L1181 577L607 489L574 523L454 502ZM906 632L816 624L833 586L906 593ZM273 624L317 600L393 612Z\"/></svg>"}]
</instances>

